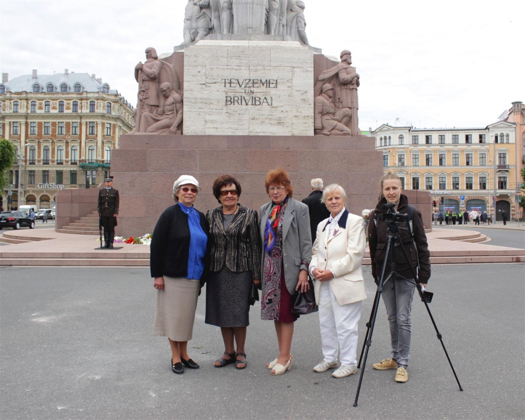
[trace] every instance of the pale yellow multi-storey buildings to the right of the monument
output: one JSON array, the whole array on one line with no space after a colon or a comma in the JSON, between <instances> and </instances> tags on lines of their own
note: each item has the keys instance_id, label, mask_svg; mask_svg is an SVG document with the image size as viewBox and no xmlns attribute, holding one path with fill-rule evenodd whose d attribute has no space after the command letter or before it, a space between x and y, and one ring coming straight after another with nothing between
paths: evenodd
<instances>
[{"instance_id":1,"label":"pale yellow multi-storey buildings to the right of the monument","mask_svg":"<svg viewBox=\"0 0 525 420\"><path fill-rule=\"evenodd\" d=\"M395 172L407 190L428 190L437 209L506 210L521 216L523 105L513 103L500 120L480 128L391 127L371 132L383 152L385 172ZM518 137L519 136L519 137Z\"/></svg>"}]
</instances>

